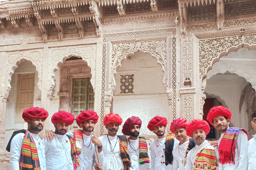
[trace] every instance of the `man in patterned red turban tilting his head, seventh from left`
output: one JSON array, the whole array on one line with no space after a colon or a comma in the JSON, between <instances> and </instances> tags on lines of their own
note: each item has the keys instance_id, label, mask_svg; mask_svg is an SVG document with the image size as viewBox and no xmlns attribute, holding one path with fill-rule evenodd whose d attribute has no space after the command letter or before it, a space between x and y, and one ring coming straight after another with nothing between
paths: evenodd
<instances>
[{"instance_id":1,"label":"man in patterned red turban tilting his head, seventh from left","mask_svg":"<svg viewBox=\"0 0 256 170\"><path fill-rule=\"evenodd\" d=\"M173 150L173 169L185 169L183 160L188 151L196 146L194 139L189 138L186 131L188 122L183 118L173 120L170 131L174 133L175 138L180 141L179 145Z\"/></svg>"}]
</instances>

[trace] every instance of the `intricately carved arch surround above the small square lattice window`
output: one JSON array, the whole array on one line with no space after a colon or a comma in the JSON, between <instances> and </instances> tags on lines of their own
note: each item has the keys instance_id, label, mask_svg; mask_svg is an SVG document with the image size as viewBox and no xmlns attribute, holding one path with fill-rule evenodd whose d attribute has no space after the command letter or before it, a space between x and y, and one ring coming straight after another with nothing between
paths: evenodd
<instances>
[{"instance_id":1,"label":"intricately carved arch surround above the small square lattice window","mask_svg":"<svg viewBox=\"0 0 256 170\"><path fill-rule=\"evenodd\" d=\"M150 53L152 56L156 57L157 63L162 65L162 70L164 71L163 83L165 88L167 88L166 80L166 58L167 58L167 40L148 40L148 41L133 41L129 43L113 43L111 53L111 92L116 88L115 74L117 73L117 67L122 66L121 63L127 57L134 55L134 53L141 50L142 52Z\"/></svg>"}]
</instances>

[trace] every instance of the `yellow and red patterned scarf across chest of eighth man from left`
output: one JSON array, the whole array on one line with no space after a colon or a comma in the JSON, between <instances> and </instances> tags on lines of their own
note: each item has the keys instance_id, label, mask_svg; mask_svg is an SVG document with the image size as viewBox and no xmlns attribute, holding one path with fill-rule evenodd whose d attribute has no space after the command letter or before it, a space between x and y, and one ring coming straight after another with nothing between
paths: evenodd
<instances>
[{"instance_id":1,"label":"yellow and red patterned scarf across chest of eighth man from left","mask_svg":"<svg viewBox=\"0 0 256 170\"><path fill-rule=\"evenodd\" d=\"M193 170L211 169L215 170L219 166L214 149L202 149L196 155Z\"/></svg>"}]
</instances>

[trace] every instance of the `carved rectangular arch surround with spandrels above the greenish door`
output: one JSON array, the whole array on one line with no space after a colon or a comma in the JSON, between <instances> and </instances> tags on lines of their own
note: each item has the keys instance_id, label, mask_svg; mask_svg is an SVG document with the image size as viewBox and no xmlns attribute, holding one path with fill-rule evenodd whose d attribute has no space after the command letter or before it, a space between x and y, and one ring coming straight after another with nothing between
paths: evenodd
<instances>
[{"instance_id":1,"label":"carved rectangular arch surround with spandrels above the greenish door","mask_svg":"<svg viewBox=\"0 0 256 170\"><path fill-rule=\"evenodd\" d=\"M76 56L78 58L82 58L84 61L87 62L88 66L91 68L91 84L93 90L95 91L95 72L96 72L96 50L95 46L76 46L76 47L58 47L58 48L51 48L50 51L50 66L51 66L51 78L49 84L49 90L52 90L55 83L55 73L59 70L61 64L65 62L67 58L72 56Z\"/></svg>"}]
</instances>

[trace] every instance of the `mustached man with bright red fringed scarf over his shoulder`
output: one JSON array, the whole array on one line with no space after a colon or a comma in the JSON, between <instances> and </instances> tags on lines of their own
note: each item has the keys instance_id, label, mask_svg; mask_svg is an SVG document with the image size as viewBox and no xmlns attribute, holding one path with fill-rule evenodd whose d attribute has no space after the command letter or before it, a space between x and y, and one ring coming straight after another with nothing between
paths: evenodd
<instances>
[{"instance_id":1,"label":"mustached man with bright red fringed scarf over his shoulder","mask_svg":"<svg viewBox=\"0 0 256 170\"><path fill-rule=\"evenodd\" d=\"M212 107L207 120L220 132L219 169L247 169L248 133L243 128L229 127L232 113L223 106ZM222 140L223 139L223 140Z\"/></svg>"}]
</instances>

